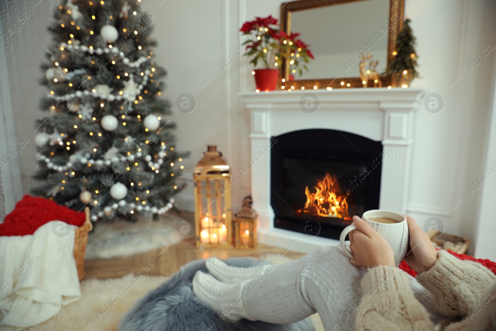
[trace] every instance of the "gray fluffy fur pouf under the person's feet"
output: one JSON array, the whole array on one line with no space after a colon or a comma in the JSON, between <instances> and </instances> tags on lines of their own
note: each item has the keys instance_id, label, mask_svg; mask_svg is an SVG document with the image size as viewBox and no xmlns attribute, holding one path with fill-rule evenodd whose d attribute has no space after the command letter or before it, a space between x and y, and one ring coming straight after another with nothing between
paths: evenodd
<instances>
[{"instance_id":1,"label":"gray fluffy fur pouf under the person's feet","mask_svg":"<svg viewBox=\"0 0 496 331\"><path fill-rule=\"evenodd\" d=\"M254 258L231 258L228 265L267 264ZM152 290L121 321L119 331L314 331L310 318L293 324L271 324L240 320L226 322L205 306L192 291L197 270L208 272L205 260L196 260L181 269L160 287ZM283 303L281 303L283 304Z\"/></svg>"}]
</instances>

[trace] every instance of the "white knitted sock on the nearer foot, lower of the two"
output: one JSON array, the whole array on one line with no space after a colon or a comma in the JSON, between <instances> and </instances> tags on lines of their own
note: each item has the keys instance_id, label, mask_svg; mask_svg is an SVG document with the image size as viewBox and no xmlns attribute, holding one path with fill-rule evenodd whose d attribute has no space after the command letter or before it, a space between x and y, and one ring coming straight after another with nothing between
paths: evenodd
<instances>
[{"instance_id":1,"label":"white knitted sock on the nearer foot, lower of the two","mask_svg":"<svg viewBox=\"0 0 496 331\"><path fill-rule=\"evenodd\" d=\"M212 275L197 271L193 277L193 293L221 318L232 322L242 318L254 321L243 305L242 290L250 280L237 284L225 284Z\"/></svg>"}]
</instances>

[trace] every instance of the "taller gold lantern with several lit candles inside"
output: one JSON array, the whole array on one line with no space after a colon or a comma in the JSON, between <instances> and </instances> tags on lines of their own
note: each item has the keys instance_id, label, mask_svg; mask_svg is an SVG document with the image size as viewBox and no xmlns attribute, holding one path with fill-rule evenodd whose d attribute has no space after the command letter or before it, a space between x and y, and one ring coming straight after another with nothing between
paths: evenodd
<instances>
[{"instance_id":1,"label":"taller gold lantern with several lit candles inside","mask_svg":"<svg viewBox=\"0 0 496 331\"><path fill-rule=\"evenodd\" d=\"M196 247L232 245L231 174L217 146L194 168L194 221Z\"/></svg>"}]
</instances>

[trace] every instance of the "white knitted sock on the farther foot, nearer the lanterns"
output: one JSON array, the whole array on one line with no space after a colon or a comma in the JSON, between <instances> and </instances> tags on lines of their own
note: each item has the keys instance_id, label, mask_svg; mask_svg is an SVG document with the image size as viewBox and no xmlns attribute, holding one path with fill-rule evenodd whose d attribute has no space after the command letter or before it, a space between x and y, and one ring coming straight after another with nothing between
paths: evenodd
<instances>
[{"instance_id":1,"label":"white knitted sock on the farther foot, nearer the lanterns","mask_svg":"<svg viewBox=\"0 0 496 331\"><path fill-rule=\"evenodd\" d=\"M262 275L270 265L258 265L248 268L227 265L217 258L208 258L205 261L208 271L223 283L236 284Z\"/></svg>"}]
</instances>

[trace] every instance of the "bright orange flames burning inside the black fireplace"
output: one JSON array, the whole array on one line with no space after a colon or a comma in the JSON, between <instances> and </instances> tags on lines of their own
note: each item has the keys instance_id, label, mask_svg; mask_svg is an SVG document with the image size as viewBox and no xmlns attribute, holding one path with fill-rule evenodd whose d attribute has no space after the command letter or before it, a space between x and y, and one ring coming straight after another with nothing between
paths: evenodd
<instances>
[{"instance_id":1,"label":"bright orange flames burning inside the black fireplace","mask_svg":"<svg viewBox=\"0 0 496 331\"><path fill-rule=\"evenodd\" d=\"M305 188L307 202L303 210L298 212L311 213L316 216L338 217L351 220L348 214L348 203L346 196L339 195L340 188L336 178L325 174L325 177L317 179L317 184L313 187L315 193L310 193L309 187Z\"/></svg>"}]
</instances>

